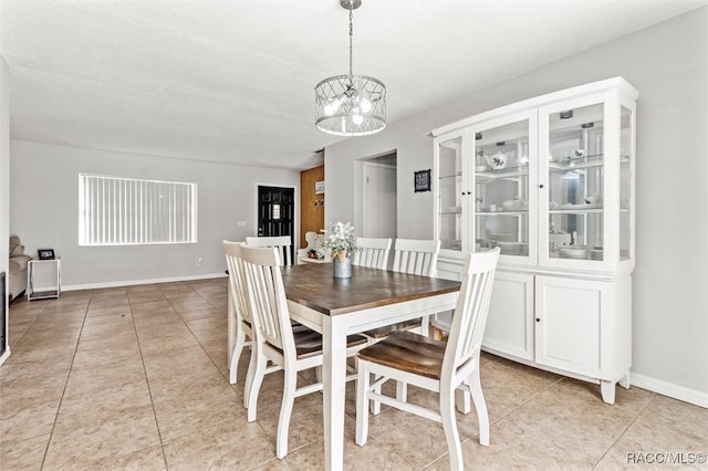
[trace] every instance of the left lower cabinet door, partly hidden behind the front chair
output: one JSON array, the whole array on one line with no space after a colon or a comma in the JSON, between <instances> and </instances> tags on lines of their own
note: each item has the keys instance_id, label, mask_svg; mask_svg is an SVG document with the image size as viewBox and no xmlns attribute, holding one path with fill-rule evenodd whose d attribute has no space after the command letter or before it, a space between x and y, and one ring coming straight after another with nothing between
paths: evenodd
<instances>
[{"instance_id":1,"label":"left lower cabinet door, partly hidden behind the front chair","mask_svg":"<svg viewBox=\"0 0 708 471\"><path fill-rule=\"evenodd\" d=\"M533 275L497 271L482 346L533 360Z\"/></svg>"}]
</instances>

